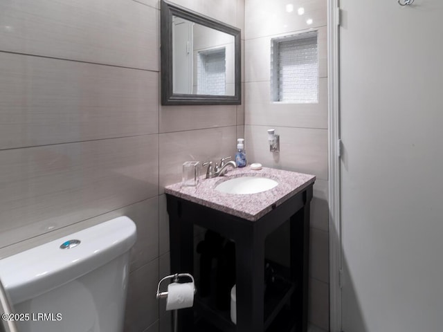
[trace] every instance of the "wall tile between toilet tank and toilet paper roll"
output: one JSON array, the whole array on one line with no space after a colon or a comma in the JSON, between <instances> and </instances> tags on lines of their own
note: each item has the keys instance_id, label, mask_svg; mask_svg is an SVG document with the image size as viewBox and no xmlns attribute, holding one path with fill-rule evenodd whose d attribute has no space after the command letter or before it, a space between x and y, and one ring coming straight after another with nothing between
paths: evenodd
<instances>
[{"instance_id":1,"label":"wall tile between toilet tank and toilet paper roll","mask_svg":"<svg viewBox=\"0 0 443 332\"><path fill-rule=\"evenodd\" d=\"M158 282L159 259L129 274L125 332L145 331L159 319L159 305L155 298Z\"/></svg>"}]
</instances>

